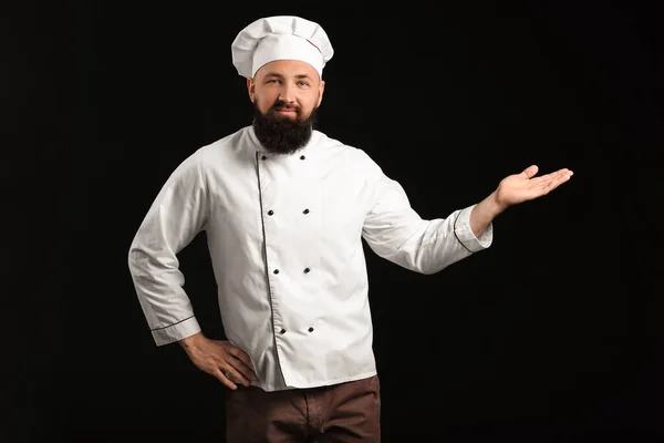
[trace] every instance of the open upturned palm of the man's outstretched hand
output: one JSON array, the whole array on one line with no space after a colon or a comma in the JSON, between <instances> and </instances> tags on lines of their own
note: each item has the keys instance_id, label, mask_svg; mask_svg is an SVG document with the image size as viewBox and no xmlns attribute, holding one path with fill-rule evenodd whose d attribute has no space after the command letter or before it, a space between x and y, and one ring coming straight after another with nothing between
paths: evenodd
<instances>
[{"instance_id":1,"label":"open upturned palm of the man's outstretched hand","mask_svg":"<svg viewBox=\"0 0 664 443\"><path fill-rule=\"evenodd\" d=\"M567 168L532 178L538 172L536 165L527 167L520 174L505 177L496 189L496 202L502 208L518 203L531 200L549 194L564 182L569 181L572 172Z\"/></svg>"}]
</instances>

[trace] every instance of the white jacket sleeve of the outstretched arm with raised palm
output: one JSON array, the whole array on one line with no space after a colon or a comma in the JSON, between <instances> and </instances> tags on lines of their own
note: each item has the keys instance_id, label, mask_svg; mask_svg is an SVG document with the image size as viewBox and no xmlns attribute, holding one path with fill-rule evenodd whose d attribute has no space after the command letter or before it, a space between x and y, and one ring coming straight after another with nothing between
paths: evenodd
<instances>
[{"instance_id":1,"label":"white jacket sleeve of the outstretched arm with raised palm","mask_svg":"<svg viewBox=\"0 0 664 443\"><path fill-rule=\"evenodd\" d=\"M492 225L479 238L470 228L475 205L446 218L422 219L403 187L364 156L371 198L362 236L376 255L413 271L434 274L491 245Z\"/></svg>"}]
</instances>

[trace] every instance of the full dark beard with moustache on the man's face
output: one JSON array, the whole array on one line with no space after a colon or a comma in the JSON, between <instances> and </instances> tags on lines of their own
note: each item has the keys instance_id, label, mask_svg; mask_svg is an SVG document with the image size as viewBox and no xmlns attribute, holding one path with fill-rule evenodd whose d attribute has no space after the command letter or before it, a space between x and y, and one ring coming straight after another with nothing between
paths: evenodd
<instances>
[{"instance_id":1,"label":"full dark beard with moustache on the man's face","mask_svg":"<svg viewBox=\"0 0 664 443\"><path fill-rule=\"evenodd\" d=\"M292 154L303 147L311 138L317 109L309 117L302 120L301 109L298 107L297 119L281 116L277 111L286 103L276 102L266 114L261 113L253 103L253 132L260 144L274 154Z\"/></svg>"}]
</instances>

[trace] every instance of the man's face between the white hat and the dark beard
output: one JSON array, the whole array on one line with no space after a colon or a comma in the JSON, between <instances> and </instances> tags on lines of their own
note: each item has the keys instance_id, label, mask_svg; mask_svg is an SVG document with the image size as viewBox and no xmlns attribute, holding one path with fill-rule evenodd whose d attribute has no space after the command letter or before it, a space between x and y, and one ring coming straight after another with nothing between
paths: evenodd
<instances>
[{"instance_id":1,"label":"man's face between the white hat and the dark beard","mask_svg":"<svg viewBox=\"0 0 664 443\"><path fill-rule=\"evenodd\" d=\"M321 104L324 87L317 70L299 60L267 63L247 80L249 97L262 114L300 122Z\"/></svg>"}]
</instances>

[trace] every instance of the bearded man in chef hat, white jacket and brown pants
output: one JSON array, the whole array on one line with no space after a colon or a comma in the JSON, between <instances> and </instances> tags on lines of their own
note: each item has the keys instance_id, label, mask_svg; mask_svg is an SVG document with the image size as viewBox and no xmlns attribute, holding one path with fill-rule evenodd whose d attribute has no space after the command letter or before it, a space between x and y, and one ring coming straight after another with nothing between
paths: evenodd
<instances>
[{"instance_id":1,"label":"bearded man in chef hat, white jacket and brown pants","mask_svg":"<svg viewBox=\"0 0 664 443\"><path fill-rule=\"evenodd\" d=\"M380 382L362 238L433 274L486 249L492 219L571 172L502 179L483 202L423 220L361 150L314 131L333 50L323 29L271 17L243 29L232 59L253 123L204 146L168 178L129 250L157 346L178 341L226 390L228 442L378 442ZM227 341L200 330L176 254L201 230Z\"/></svg>"}]
</instances>

